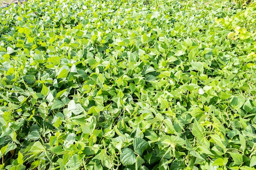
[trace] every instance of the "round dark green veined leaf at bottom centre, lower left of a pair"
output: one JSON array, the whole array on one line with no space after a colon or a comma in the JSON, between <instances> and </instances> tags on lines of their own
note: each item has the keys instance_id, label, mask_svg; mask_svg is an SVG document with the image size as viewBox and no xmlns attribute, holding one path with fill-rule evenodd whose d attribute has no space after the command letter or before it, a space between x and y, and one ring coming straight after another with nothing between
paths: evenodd
<instances>
[{"instance_id":1,"label":"round dark green veined leaf at bottom centre, lower left of a pair","mask_svg":"<svg viewBox=\"0 0 256 170\"><path fill-rule=\"evenodd\" d=\"M136 162L136 155L130 148L124 148L121 152L120 159L124 166L133 165Z\"/></svg>"}]
</instances>

